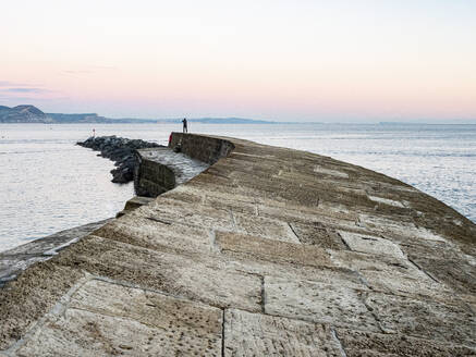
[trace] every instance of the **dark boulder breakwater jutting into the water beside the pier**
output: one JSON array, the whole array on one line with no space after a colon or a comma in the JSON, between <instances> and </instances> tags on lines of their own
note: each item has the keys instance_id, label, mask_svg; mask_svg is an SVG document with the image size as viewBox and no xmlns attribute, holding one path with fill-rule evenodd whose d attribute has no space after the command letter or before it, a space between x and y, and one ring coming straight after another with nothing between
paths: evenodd
<instances>
[{"instance_id":1,"label":"dark boulder breakwater jutting into the water beside the pier","mask_svg":"<svg viewBox=\"0 0 476 357\"><path fill-rule=\"evenodd\" d=\"M78 141L76 145L101 151L99 156L114 161L117 169L111 170L112 182L124 184L134 180L134 168L137 164L137 158L134 151L137 149L163 147L157 143L148 143L141 139L127 139L124 137L98 136L89 137L85 141Z\"/></svg>"}]
</instances>

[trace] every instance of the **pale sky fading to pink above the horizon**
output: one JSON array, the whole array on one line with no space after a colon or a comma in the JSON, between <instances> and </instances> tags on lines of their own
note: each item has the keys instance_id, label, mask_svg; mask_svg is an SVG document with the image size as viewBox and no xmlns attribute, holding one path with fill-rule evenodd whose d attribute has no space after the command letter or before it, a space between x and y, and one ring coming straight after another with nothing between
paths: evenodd
<instances>
[{"instance_id":1,"label":"pale sky fading to pink above the horizon","mask_svg":"<svg viewBox=\"0 0 476 357\"><path fill-rule=\"evenodd\" d=\"M0 104L110 118L476 121L473 0L15 0Z\"/></svg>"}]
</instances>

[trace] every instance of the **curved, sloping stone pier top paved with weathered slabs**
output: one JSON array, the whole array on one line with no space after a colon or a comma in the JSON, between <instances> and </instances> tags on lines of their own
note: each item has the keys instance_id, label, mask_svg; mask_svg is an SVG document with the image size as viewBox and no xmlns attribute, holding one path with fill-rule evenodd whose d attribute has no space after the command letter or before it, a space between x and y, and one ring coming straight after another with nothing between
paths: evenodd
<instances>
[{"instance_id":1,"label":"curved, sloping stone pier top paved with weathered slabs","mask_svg":"<svg viewBox=\"0 0 476 357\"><path fill-rule=\"evenodd\" d=\"M329 157L178 143L209 167L0 288L0 356L476 355L473 222Z\"/></svg>"}]
</instances>

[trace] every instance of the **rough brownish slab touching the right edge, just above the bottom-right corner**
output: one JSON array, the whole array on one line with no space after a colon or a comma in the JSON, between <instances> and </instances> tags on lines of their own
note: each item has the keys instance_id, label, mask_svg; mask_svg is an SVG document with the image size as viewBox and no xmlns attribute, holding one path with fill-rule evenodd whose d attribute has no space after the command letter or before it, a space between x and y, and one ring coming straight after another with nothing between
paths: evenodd
<instances>
[{"instance_id":1,"label":"rough brownish slab touching the right edge, just above the bottom-right corner","mask_svg":"<svg viewBox=\"0 0 476 357\"><path fill-rule=\"evenodd\" d=\"M370 293L366 305L387 332L476 346L476 317L463 304Z\"/></svg>"}]
</instances>

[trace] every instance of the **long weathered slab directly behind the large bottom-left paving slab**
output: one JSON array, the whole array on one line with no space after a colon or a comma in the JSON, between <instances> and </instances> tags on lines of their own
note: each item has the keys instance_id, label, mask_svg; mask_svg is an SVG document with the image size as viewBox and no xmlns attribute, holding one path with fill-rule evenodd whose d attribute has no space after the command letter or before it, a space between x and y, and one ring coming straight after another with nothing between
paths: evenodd
<instances>
[{"instance_id":1,"label":"long weathered slab directly behind the large bottom-left paving slab","mask_svg":"<svg viewBox=\"0 0 476 357\"><path fill-rule=\"evenodd\" d=\"M90 251L101 251L100 256ZM196 260L89 236L58 260L96 275L109 276L218 307L261 309L261 280L224 270L220 260Z\"/></svg>"}]
</instances>

